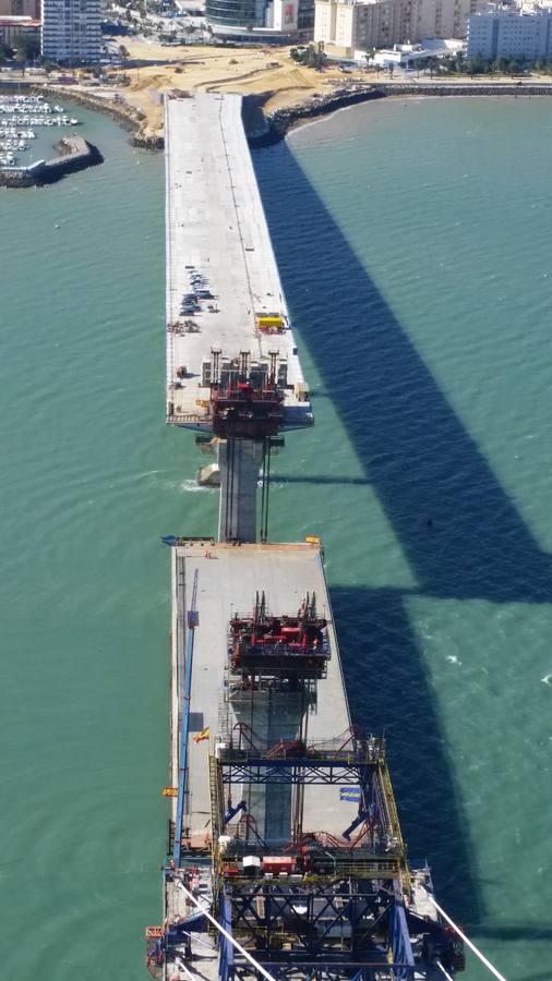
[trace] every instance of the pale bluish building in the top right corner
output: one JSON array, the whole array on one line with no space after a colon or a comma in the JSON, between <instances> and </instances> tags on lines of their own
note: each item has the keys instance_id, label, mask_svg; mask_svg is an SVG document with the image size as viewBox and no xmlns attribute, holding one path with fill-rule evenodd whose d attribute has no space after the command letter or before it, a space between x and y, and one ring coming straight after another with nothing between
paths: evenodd
<instances>
[{"instance_id":1,"label":"pale bluish building in the top right corner","mask_svg":"<svg viewBox=\"0 0 552 981\"><path fill-rule=\"evenodd\" d=\"M552 11L495 10L469 17L467 55L552 61Z\"/></svg>"}]
</instances>

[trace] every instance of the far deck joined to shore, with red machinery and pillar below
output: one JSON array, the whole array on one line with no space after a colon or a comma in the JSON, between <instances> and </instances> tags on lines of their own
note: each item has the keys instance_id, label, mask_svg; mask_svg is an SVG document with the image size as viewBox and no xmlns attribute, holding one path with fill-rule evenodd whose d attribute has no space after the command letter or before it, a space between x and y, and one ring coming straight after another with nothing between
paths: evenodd
<instances>
[{"instance_id":1,"label":"far deck joined to shore, with red machinery and pillar below","mask_svg":"<svg viewBox=\"0 0 552 981\"><path fill-rule=\"evenodd\" d=\"M167 421L213 439L218 537L254 542L260 468L313 416L241 104L166 100Z\"/></svg>"}]
</instances>

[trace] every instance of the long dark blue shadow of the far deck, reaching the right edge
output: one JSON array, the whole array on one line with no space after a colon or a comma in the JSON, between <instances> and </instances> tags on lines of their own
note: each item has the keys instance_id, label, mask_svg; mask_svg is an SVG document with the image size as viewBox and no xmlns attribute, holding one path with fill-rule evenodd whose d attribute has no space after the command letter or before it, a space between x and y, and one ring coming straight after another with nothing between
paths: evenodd
<instances>
[{"instance_id":1,"label":"long dark blue shadow of the far deck, reaching the right edge","mask_svg":"<svg viewBox=\"0 0 552 981\"><path fill-rule=\"evenodd\" d=\"M443 598L550 602L551 556L287 144L262 150L255 160L293 320L420 590Z\"/></svg>"}]
</instances>

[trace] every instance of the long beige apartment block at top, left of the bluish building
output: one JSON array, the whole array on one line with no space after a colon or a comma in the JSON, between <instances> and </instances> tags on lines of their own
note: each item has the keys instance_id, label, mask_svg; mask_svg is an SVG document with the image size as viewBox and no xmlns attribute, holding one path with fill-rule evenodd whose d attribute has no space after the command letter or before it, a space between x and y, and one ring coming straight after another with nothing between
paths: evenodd
<instances>
[{"instance_id":1,"label":"long beige apartment block at top, left of the bluish building","mask_svg":"<svg viewBox=\"0 0 552 981\"><path fill-rule=\"evenodd\" d=\"M466 37L475 0L315 0L314 40L329 53Z\"/></svg>"}]
</instances>

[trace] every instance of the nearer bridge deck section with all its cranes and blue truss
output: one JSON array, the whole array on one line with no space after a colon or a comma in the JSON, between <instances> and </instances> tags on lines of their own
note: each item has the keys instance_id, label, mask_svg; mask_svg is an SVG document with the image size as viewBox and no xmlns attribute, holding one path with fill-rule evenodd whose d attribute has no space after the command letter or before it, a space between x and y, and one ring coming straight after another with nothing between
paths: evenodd
<instances>
[{"instance_id":1,"label":"nearer bridge deck section with all its cranes and blue truss","mask_svg":"<svg viewBox=\"0 0 552 981\"><path fill-rule=\"evenodd\" d=\"M175 541L171 666L173 806L151 973L461 970L429 869L407 863L385 741L351 726L319 544Z\"/></svg>"}]
</instances>

